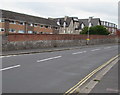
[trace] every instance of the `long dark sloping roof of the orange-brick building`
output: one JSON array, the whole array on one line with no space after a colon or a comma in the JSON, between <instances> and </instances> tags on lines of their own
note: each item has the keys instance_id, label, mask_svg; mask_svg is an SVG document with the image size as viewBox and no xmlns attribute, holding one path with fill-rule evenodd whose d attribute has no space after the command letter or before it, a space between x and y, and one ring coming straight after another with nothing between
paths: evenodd
<instances>
[{"instance_id":1,"label":"long dark sloping roof of the orange-brick building","mask_svg":"<svg viewBox=\"0 0 120 95\"><path fill-rule=\"evenodd\" d=\"M29 23L40 23L45 25L58 26L54 20L12 12L12 11L1 10L1 9L0 9L0 16L2 16L2 18L25 21Z\"/></svg>"}]
</instances>

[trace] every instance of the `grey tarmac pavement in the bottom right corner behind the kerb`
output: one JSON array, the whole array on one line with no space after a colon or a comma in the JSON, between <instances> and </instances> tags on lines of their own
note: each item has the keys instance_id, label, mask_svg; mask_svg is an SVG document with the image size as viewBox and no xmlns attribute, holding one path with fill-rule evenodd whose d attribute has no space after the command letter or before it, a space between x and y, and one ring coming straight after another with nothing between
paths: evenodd
<instances>
[{"instance_id":1,"label":"grey tarmac pavement in the bottom right corner behind the kerb","mask_svg":"<svg viewBox=\"0 0 120 95\"><path fill-rule=\"evenodd\" d=\"M90 93L120 93L120 88L118 87L118 64L111 68Z\"/></svg>"}]
</instances>

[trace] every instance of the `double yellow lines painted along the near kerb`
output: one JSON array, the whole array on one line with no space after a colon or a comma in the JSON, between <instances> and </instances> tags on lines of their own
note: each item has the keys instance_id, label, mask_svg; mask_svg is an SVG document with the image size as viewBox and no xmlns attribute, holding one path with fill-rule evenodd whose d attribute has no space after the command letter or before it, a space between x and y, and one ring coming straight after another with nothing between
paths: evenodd
<instances>
[{"instance_id":1,"label":"double yellow lines painted along the near kerb","mask_svg":"<svg viewBox=\"0 0 120 95\"><path fill-rule=\"evenodd\" d=\"M120 55L120 54L119 54ZM70 95L72 93L74 93L81 85L83 85L88 79L90 79L94 74L96 74L98 71L100 71L102 68L104 68L105 66L107 66L108 64L110 64L113 60L115 60L116 58L119 57L119 55L113 57L112 59L110 59L108 62L104 63L103 65L101 65L100 67L96 68L95 70L93 70L90 74L88 74L85 78L83 78L80 82L78 82L75 86L73 86L72 88L70 88L67 92L65 92L64 95Z\"/></svg>"}]
</instances>

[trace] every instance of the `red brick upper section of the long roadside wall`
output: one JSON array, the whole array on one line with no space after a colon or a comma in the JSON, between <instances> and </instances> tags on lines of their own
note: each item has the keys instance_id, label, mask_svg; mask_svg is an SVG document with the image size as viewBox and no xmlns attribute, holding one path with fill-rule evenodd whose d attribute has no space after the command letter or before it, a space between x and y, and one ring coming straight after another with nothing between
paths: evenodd
<instances>
[{"instance_id":1,"label":"red brick upper section of the long roadside wall","mask_svg":"<svg viewBox=\"0 0 120 95\"><path fill-rule=\"evenodd\" d=\"M90 39L109 39L116 36L109 35L90 35ZM8 41L39 41L39 40L85 40L87 35L72 35L72 34L10 34Z\"/></svg>"}]
</instances>

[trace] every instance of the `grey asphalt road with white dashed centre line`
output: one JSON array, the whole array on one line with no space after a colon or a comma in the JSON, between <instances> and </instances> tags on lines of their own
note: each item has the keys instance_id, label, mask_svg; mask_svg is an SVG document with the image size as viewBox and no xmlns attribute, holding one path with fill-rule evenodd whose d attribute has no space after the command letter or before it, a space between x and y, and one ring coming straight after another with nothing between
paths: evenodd
<instances>
[{"instance_id":1,"label":"grey asphalt road with white dashed centre line","mask_svg":"<svg viewBox=\"0 0 120 95\"><path fill-rule=\"evenodd\" d=\"M64 93L118 54L118 45L100 45L2 57L3 93Z\"/></svg>"}]
</instances>

